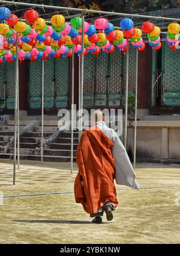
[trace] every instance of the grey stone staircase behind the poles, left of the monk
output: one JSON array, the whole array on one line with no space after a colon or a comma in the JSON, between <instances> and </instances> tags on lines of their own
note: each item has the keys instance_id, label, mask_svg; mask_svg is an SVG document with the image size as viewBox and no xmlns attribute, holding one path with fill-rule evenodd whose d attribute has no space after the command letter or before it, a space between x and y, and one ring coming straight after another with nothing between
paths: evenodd
<instances>
[{"instance_id":1,"label":"grey stone staircase behind the poles, left of the monk","mask_svg":"<svg viewBox=\"0 0 180 256\"><path fill-rule=\"evenodd\" d=\"M20 120L20 128L27 125L29 120ZM50 137L57 130L57 121L44 120L44 139ZM7 125L0 125L0 158L13 158L14 146L8 147L3 152L2 147L7 143L7 137L14 135L14 120L7 120ZM41 160L41 126L35 126L32 132L20 136L19 152L20 159ZM76 149L78 145L78 132L74 131L73 160L76 160ZM62 131L59 136L49 144L43 151L44 161L70 161L71 158L71 132Z\"/></svg>"}]
</instances>

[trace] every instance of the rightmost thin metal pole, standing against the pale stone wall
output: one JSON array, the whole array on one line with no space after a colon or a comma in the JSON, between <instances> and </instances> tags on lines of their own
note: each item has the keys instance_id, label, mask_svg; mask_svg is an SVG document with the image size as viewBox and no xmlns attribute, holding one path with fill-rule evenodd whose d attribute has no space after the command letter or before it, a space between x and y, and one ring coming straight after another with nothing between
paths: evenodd
<instances>
[{"instance_id":1,"label":"rightmost thin metal pole, standing against the pale stone wall","mask_svg":"<svg viewBox=\"0 0 180 256\"><path fill-rule=\"evenodd\" d=\"M134 170L136 169L137 84L138 84L137 79L138 79L138 49L136 49L136 70L135 70Z\"/></svg>"}]
</instances>

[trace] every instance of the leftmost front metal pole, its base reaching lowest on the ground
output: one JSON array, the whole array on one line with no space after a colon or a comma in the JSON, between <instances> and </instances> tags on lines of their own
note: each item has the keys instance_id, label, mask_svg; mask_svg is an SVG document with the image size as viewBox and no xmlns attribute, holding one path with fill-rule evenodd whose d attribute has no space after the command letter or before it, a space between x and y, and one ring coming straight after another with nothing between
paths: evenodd
<instances>
[{"instance_id":1,"label":"leftmost front metal pole, its base reaching lowest on the ground","mask_svg":"<svg viewBox=\"0 0 180 256\"><path fill-rule=\"evenodd\" d=\"M15 71L15 99L14 99L14 164L13 164L13 185L16 185L16 142L17 142L17 95L19 87L19 58L18 58L18 34L16 41L16 71Z\"/></svg>"}]
</instances>

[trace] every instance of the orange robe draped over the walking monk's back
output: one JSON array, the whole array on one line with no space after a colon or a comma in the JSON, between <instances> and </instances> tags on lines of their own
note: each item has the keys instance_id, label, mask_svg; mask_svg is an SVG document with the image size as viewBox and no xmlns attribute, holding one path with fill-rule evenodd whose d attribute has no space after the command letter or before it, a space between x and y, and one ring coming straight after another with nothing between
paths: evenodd
<instances>
[{"instance_id":1,"label":"orange robe draped over the walking monk's back","mask_svg":"<svg viewBox=\"0 0 180 256\"><path fill-rule=\"evenodd\" d=\"M87 213L95 213L106 202L118 205L115 178L113 142L97 126L83 132L77 147L79 167L74 183L74 195Z\"/></svg>"}]
</instances>

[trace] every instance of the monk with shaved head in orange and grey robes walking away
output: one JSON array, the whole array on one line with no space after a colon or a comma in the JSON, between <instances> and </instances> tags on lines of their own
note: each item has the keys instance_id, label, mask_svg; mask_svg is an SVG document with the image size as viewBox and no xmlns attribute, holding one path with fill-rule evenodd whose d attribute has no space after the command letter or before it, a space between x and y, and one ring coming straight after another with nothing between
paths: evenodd
<instances>
[{"instance_id":1,"label":"monk with shaved head in orange and grey robes walking away","mask_svg":"<svg viewBox=\"0 0 180 256\"><path fill-rule=\"evenodd\" d=\"M139 189L139 184L121 140L107 127L101 110L95 110L92 116L95 126L83 132L77 147L79 172L74 182L74 195L76 202L94 217L92 222L102 223L104 212L110 221L118 206L114 179L117 184L134 189Z\"/></svg>"}]
</instances>

